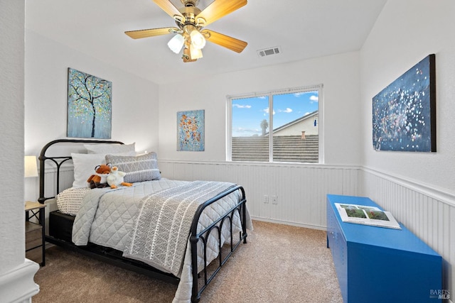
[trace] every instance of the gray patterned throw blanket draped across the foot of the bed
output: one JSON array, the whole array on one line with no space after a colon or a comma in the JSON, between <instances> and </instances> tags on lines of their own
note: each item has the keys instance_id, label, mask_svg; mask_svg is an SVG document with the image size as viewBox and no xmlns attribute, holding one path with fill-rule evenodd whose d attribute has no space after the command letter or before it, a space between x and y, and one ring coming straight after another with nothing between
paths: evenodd
<instances>
[{"instance_id":1,"label":"gray patterned throw blanket draped across the foot of the bed","mask_svg":"<svg viewBox=\"0 0 455 303\"><path fill-rule=\"evenodd\" d=\"M195 181L144 198L123 255L180 275L196 209L233 185Z\"/></svg>"}]
</instances>

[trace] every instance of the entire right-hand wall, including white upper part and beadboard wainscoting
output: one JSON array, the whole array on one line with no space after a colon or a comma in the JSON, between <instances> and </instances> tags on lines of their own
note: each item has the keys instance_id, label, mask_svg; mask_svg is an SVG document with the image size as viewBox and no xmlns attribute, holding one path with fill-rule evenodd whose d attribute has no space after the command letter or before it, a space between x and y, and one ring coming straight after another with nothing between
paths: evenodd
<instances>
[{"instance_id":1,"label":"entire right-hand wall, including white upper part and beadboard wainscoting","mask_svg":"<svg viewBox=\"0 0 455 303\"><path fill-rule=\"evenodd\" d=\"M455 2L389 0L360 51L363 172L374 199L443 258L443 288L455 294ZM437 153L373 150L371 104L380 90L436 54Z\"/></svg>"}]
</instances>

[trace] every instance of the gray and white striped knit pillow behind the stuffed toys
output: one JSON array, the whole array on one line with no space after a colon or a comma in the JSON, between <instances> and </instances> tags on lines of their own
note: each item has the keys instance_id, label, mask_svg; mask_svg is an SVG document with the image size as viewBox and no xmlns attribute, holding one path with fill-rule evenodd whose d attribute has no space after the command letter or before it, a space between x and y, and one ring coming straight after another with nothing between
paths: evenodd
<instances>
[{"instance_id":1,"label":"gray and white striped knit pillow behind the stuffed toys","mask_svg":"<svg viewBox=\"0 0 455 303\"><path fill-rule=\"evenodd\" d=\"M124 182L134 183L161 179L154 152L138 156L106 155L106 163L119 167L119 172L126 172Z\"/></svg>"}]
</instances>

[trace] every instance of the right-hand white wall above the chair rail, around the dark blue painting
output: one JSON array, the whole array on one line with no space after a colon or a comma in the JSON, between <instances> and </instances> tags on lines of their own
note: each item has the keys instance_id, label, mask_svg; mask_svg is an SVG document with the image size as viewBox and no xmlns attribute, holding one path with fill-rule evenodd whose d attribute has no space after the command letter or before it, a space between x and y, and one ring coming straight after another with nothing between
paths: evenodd
<instances>
[{"instance_id":1,"label":"right-hand white wall above the chair rail, around the dark blue painting","mask_svg":"<svg viewBox=\"0 0 455 303\"><path fill-rule=\"evenodd\" d=\"M363 164L455 193L455 2L390 0L361 51ZM437 153L373 150L372 98L429 54L436 54Z\"/></svg>"}]
</instances>

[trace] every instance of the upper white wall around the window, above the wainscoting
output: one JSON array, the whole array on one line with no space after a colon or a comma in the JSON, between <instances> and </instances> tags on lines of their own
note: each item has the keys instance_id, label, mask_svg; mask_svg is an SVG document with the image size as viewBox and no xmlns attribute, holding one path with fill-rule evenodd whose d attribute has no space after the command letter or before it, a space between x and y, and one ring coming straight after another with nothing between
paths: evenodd
<instances>
[{"instance_id":1,"label":"upper white wall around the window, above the wainscoting","mask_svg":"<svg viewBox=\"0 0 455 303\"><path fill-rule=\"evenodd\" d=\"M315 84L323 84L319 121L324 127L320 136L325 162L358 165L360 81L356 52L161 85L158 156L162 160L225 161L226 96ZM205 109L205 151L177 152L176 112L192 109Z\"/></svg>"}]
</instances>

